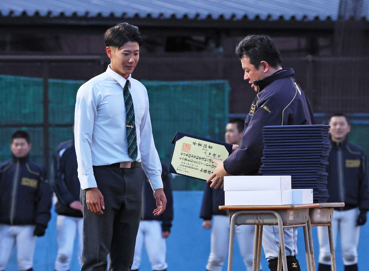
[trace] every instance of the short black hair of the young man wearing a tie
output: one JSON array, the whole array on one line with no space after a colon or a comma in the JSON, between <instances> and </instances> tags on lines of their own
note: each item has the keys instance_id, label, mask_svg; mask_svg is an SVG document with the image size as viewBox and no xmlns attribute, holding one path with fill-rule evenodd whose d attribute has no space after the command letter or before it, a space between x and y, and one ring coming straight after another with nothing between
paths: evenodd
<instances>
[{"instance_id":1,"label":"short black hair of the young man wearing a tie","mask_svg":"<svg viewBox=\"0 0 369 271\"><path fill-rule=\"evenodd\" d=\"M110 27L104 35L104 42L106 46L117 47L118 49L126 42L137 42L139 46L142 44L141 33L138 27L122 22L113 27Z\"/></svg>"}]
</instances>

